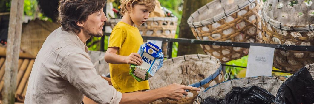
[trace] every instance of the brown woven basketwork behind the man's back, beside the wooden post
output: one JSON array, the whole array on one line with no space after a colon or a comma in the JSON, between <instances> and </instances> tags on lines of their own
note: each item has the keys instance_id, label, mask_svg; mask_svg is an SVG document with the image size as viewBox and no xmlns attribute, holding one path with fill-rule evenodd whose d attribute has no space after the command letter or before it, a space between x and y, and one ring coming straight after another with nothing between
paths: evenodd
<instances>
[{"instance_id":1,"label":"brown woven basketwork behind the man's back, beside the wooden post","mask_svg":"<svg viewBox=\"0 0 314 104\"><path fill-rule=\"evenodd\" d=\"M36 57L48 35L60 24L35 19L22 26L21 49Z\"/></svg>"}]
</instances>

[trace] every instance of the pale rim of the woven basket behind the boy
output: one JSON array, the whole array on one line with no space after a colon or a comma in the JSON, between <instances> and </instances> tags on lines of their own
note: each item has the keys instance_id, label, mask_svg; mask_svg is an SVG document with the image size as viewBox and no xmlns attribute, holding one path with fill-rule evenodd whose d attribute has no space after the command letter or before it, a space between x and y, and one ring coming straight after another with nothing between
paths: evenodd
<instances>
[{"instance_id":1,"label":"pale rim of the woven basket behind the boy","mask_svg":"<svg viewBox=\"0 0 314 104\"><path fill-rule=\"evenodd\" d=\"M120 22L121 18L110 18L108 20L109 23L117 23ZM171 21L178 22L177 17L149 17L146 21Z\"/></svg>"}]
</instances>

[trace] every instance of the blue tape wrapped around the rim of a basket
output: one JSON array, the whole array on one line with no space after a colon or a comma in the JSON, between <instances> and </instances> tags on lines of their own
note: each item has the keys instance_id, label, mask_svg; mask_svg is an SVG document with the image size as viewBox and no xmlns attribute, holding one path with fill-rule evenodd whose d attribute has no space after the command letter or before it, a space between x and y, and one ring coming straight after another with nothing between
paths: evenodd
<instances>
[{"instance_id":1,"label":"blue tape wrapped around the rim of a basket","mask_svg":"<svg viewBox=\"0 0 314 104\"><path fill-rule=\"evenodd\" d=\"M222 71L222 65L220 64L219 68L214 72L214 74L211 74L210 76L206 77L205 79L199 81L199 82L196 82L196 83L193 83L193 84L190 84L188 86L192 86L192 87L201 87L203 86L204 84L210 82L211 80L214 80L214 78L216 78L217 76L219 76L219 73Z\"/></svg>"}]
</instances>

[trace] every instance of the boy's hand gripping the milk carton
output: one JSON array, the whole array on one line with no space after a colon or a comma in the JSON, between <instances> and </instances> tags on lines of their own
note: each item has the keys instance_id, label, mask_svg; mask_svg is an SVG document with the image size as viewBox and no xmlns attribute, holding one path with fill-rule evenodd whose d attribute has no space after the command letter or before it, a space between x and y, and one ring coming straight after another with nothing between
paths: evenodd
<instances>
[{"instance_id":1,"label":"boy's hand gripping the milk carton","mask_svg":"<svg viewBox=\"0 0 314 104\"><path fill-rule=\"evenodd\" d=\"M127 64L134 64L137 66L140 66L143 63L143 60L141 59L141 56L138 53L131 53L129 56L125 57L124 61Z\"/></svg>"}]
</instances>

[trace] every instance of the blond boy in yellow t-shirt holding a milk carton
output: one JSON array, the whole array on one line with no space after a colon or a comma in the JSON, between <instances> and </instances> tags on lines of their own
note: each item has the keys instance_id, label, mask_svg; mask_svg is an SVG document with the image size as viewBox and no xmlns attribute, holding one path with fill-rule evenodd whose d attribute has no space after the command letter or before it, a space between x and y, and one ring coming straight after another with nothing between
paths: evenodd
<instances>
[{"instance_id":1,"label":"blond boy in yellow t-shirt holding a milk carton","mask_svg":"<svg viewBox=\"0 0 314 104\"><path fill-rule=\"evenodd\" d=\"M122 93L149 89L148 81L138 82L129 75L130 64L141 65L136 53L143 39L135 25L142 25L154 10L155 0L121 0L120 22L112 29L105 60L109 63L113 87Z\"/></svg>"}]
</instances>

